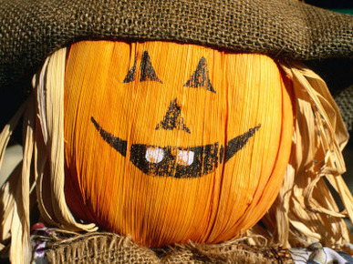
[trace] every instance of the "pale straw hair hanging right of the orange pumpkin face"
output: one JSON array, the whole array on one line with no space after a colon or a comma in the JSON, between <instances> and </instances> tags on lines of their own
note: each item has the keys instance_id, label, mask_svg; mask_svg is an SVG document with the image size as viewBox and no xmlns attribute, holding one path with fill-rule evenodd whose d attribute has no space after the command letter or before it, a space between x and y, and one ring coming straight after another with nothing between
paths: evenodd
<instances>
[{"instance_id":1,"label":"pale straw hair hanging right of the orange pumpkin face","mask_svg":"<svg viewBox=\"0 0 353 264\"><path fill-rule=\"evenodd\" d=\"M275 230L275 242L284 247L315 240L339 247L352 241L342 219L353 219L353 198L341 177L346 170L341 151L348 142L348 132L319 76L305 66L282 67L294 86L295 133L284 184L263 219ZM337 190L344 212L338 212L324 177ZM319 199L313 198L314 193ZM315 223L321 225L321 233Z\"/></svg>"}]
</instances>

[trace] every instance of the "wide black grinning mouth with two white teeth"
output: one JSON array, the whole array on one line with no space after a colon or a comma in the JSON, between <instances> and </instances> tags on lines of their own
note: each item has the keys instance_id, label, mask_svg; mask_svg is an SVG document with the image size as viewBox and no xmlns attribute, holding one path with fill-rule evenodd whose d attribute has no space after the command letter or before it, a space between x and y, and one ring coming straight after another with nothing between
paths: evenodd
<instances>
[{"instance_id":1,"label":"wide black grinning mouth with two white teeth","mask_svg":"<svg viewBox=\"0 0 353 264\"><path fill-rule=\"evenodd\" d=\"M115 148L121 156L126 157L127 141L115 137L91 117L93 125L100 137L110 147ZM227 142L226 147L214 144L198 147L158 147L145 144L132 144L130 147L130 161L143 173L154 176L173 178L197 178L209 174L218 167L218 164L227 162L241 150L250 137L261 127L250 128L243 135L234 137Z\"/></svg>"}]
</instances>

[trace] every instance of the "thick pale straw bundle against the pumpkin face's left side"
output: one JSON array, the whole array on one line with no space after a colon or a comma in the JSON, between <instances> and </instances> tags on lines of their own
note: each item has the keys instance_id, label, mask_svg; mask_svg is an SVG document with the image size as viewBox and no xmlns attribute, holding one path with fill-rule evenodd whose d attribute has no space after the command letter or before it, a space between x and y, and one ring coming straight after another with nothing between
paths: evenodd
<instances>
[{"instance_id":1,"label":"thick pale straw bundle against the pumpkin face's left side","mask_svg":"<svg viewBox=\"0 0 353 264\"><path fill-rule=\"evenodd\" d=\"M41 125L44 145L47 148L50 168L51 203L55 220L61 228L72 230L92 229L94 224L79 224L72 216L64 193L64 80L67 49L62 48L49 57L37 86L38 121ZM38 160L38 176L42 178L44 168ZM41 207L45 207L42 200Z\"/></svg>"}]
</instances>

